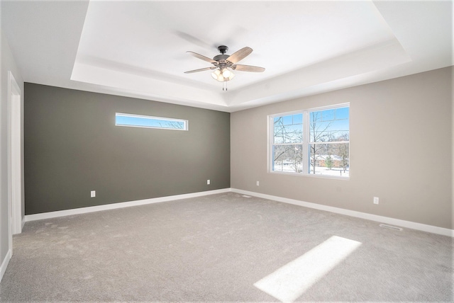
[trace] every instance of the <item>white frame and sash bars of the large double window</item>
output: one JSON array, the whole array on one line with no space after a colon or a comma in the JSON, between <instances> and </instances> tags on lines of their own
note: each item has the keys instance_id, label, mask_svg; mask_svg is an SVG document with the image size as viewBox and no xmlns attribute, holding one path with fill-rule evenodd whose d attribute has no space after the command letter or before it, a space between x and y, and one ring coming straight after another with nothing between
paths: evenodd
<instances>
[{"instance_id":1,"label":"white frame and sash bars of the large double window","mask_svg":"<svg viewBox=\"0 0 454 303\"><path fill-rule=\"evenodd\" d=\"M317 142L315 144L345 144L348 143L348 176L331 176L331 175L321 175L321 174L316 174L316 173L310 173L310 161L311 161L311 156L309 154L309 149L311 147L311 144L314 144L314 142L310 141L310 122L311 122L311 117L310 113L316 112L316 111L323 111L323 110L332 110L332 109L338 109L338 108L348 108L348 141L343 141L343 142ZM274 132L275 132L275 123L274 119L276 117L282 117L282 116L287 116L287 115L296 115L296 114L302 114L303 115L303 123L302 123L302 142L298 143L289 143L289 144L302 144L302 151L301 151L301 157L302 157L302 169L301 172L296 172L296 171L273 171L273 164L274 164L274 154L273 154L273 147L275 145L284 145L284 144L275 144L274 142ZM314 178L334 178L338 180L350 180L350 103L338 103L335 105L327 105L327 106L321 106L317 108L308 108L304 110L293 110L285 113L277 113L277 114L272 114L267 116L267 172L268 173L273 173L273 174L283 174L287 176L309 176L309 177L314 177Z\"/></svg>"}]
</instances>

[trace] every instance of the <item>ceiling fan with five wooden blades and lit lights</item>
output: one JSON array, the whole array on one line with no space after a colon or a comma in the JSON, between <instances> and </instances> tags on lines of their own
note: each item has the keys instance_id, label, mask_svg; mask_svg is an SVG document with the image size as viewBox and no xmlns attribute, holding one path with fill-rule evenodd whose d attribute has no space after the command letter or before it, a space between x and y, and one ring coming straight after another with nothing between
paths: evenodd
<instances>
[{"instance_id":1,"label":"ceiling fan with five wooden blades and lit lights","mask_svg":"<svg viewBox=\"0 0 454 303\"><path fill-rule=\"evenodd\" d=\"M214 71L211 73L213 79L219 82L224 82L230 81L235 76L235 74L233 74L232 72L232 69L241 72L265 72L265 69L263 67L253 67L252 65L236 64L236 62L239 62L240 60L250 55L250 53L253 52L252 48L243 47L241 50L234 52L232 55L226 55L227 50L228 47L226 47L226 45L219 46L218 51L221 52L221 55L214 56L213 59L197 54L196 52L187 51L189 54L193 55L196 58L202 59L206 62L210 62L211 64L213 64L213 66L205 67L203 69L194 69L192 71L184 72L184 74L214 69Z\"/></svg>"}]
</instances>

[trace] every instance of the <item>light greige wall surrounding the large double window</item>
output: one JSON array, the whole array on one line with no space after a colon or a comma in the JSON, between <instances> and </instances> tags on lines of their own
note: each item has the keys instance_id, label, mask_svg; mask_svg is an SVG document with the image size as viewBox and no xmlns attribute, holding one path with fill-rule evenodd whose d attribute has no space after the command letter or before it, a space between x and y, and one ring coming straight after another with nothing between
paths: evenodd
<instances>
[{"instance_id":1,"label":"light greige wall surrounding the large double window","mask_svg":"<svg viewBox=\"0 0 454 303\"><path fill-rule=\"evenodd\" d=\"M448 67L232 113L231 187L453 229L452 81ZM349 181L267 173L267 115L345 102Z\"/></svg>"}]
</instances>

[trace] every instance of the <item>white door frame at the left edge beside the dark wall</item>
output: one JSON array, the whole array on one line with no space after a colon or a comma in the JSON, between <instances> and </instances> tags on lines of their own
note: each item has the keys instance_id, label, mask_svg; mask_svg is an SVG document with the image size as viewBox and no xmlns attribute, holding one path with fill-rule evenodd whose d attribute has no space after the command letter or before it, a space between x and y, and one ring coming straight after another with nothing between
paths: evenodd
<instances>
[{"instance_id":1,"label":"white door frame at the left edge beside the dark wall","mask_svg":"<svg viewBox=\"0 0 454 303\"><path fill-rule=\"evenodd\" d=\"M8 183L9 183L9 248L13 249L13 234L22 232L22 106L21 88L11 71L8 72Z\"/></svg>"}]
</instances>

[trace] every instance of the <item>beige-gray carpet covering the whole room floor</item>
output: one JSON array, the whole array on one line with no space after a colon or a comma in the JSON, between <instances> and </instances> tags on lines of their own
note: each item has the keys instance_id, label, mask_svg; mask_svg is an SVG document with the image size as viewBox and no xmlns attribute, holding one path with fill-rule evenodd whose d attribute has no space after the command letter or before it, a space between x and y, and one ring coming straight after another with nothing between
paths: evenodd
<instances>
[{"instance_id":1,"label":"beige-gray carpet covering the whole room floor","mask_svg":"<svg viewBox=\"0 0 454 303\"><path fill-rule=\"evenodd\" d=\"M26 223L1 302L453 302L453 239L237 193Z\"/></svg>"}]
</instances>

